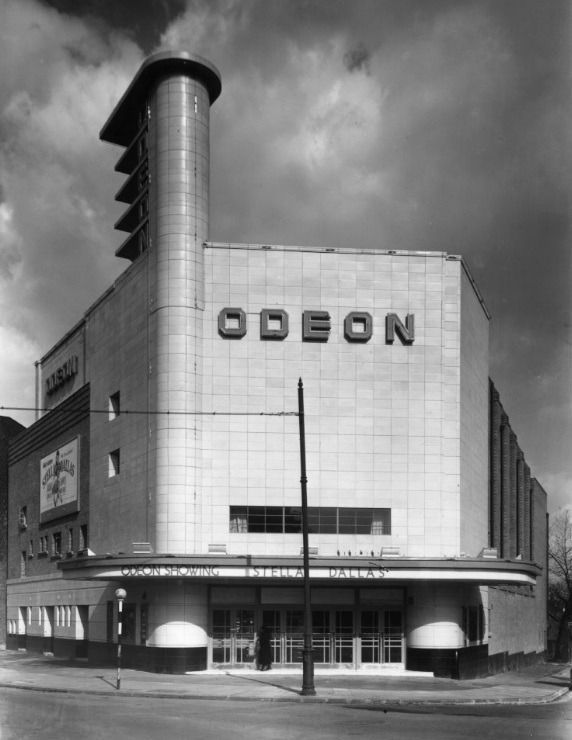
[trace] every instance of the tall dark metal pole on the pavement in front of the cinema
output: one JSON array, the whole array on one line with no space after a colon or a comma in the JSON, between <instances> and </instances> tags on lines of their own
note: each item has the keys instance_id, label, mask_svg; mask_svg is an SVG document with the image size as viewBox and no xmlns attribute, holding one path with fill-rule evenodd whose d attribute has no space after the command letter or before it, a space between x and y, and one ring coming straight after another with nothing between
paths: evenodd
<instances>
[{"instance_id":1,"label":"tall dark metal pole on the pavement in front of the cinema","mask_svg":"<svg viewBox=\"0 0 572 740\"><path fill-rule=\"evenodd\" d=\"M312 655L312 604L310 600L310 558L308 553L308 492L306 484L306 430L304 385L298 381L298 422L300 425L300 486L302 489L302 552L304 555L304 649L302 650L302 696L315 696Z\"/></svg>"}]
</instances>

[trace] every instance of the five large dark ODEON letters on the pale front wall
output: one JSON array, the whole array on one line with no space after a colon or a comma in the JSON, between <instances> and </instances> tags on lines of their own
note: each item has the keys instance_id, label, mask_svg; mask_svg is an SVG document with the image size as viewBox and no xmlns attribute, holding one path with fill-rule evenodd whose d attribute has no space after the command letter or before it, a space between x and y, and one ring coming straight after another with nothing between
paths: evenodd
<instances>
[{"instance_id":1,"label":"five large dark ODEON letters on the pale front wall","mask_svg":"<svg viewBox=\"0 0 572 740\"><path fill-rule=\"evenodd\" d=\"M332 329L328 311L302 312L302 341L327 342ZM246 313L242 308L223 308L218 315L218 331L224 339L242 339L247 331ZM263 308L260 311L260 339L286 339L289 316L283 308ZM395 313L385 316L385 341L393 344L395 336L403 344L415 340L415 316L407 314L401 321ZM350 311L344 318L344 337L348 342L368 342L373 336L373 318L367 311Z\"/></svg>"}]
</instances>

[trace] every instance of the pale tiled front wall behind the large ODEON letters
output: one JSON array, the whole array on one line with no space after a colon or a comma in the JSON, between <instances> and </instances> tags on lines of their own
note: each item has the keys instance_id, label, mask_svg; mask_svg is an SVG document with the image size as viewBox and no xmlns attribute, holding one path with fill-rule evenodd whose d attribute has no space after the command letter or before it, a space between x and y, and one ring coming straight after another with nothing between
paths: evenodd
<instances>
[{"instance_id":1,"label":"pale tiled front wall behind the large ODEON letters","mask_svg":"<svg viewBox=\"0 0 572 740\"><path fill-rule=\"evenodd\" d=\"M352 500L392 512L391 534L374 542L311 538L320 553L385 546L411 557L441 557L476 555L487 546L487 502L477 494L486 487L488 459L488 318L459 258L207 244L205 277L203 407L221 414L203 422L204 516L214 541L228 537L232 504L297 505L297 420L256 412L294 411L302 377L310 505ZM217 322L225 307L244 310L243 338L221 338ZM288 314L288 336L261 340L260 312L276 308ZM327 342L302 340L302 314L309 310L329 312ZM352 311L372 316L367 343L344 336ZM391 313L415 317L411 345L386 341ZM470 337L462 346L465 324ZM474 357L483 349L484 356ZM461 444L461 424L470 445ZM225 498L215 493L220 490ZM464 507L474 524L463 538ZM231 549L291 554L298 544L292 539L236 535Z\"/></svg>"}]
</instances>

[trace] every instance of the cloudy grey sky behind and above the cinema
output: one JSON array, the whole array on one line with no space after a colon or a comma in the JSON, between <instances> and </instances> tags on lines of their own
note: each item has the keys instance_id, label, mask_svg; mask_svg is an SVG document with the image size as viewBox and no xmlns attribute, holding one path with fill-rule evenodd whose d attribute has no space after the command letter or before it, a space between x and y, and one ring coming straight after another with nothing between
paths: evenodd
<instances>
[{"instance_id":1,"label":"cloudy grey sky behind and above the cinema","mask_svg":"<svg viewBox=\"0 0 572 740\"><path fill-rule=\"evenodd\" d=\"M34 361L127 266L98 133L146 55L187 49L223 80L210 238L462 254L519 443L572 504L571 8L2 0L0 405L34 405Z\"/></svg>"}]
</instances>

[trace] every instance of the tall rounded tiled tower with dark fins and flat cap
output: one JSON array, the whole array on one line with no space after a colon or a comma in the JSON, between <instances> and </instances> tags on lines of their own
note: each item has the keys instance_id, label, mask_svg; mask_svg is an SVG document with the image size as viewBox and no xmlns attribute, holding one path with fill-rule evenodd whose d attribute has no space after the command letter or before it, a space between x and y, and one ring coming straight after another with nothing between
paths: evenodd
<instances>
[{"instance_id":1,"label":"tall rounded tiled tower with dark fins and flat cap","mask_svg":"<svg viewBox=\"0 0 572 740\"><path fill-rule=\"evenodd\" d=\"M101 131L125 147L127 204L117 250L146 261L148 382L146 537L160 554L196 552L201 511L203 243L209 227L209 115L221 90L210 62L186 52L149 57ZM141 428L141 436L143 429ZM143 461L143 458L142 458ZM145 500L143 500L145 498ZM204 593L203 593L204 591ZM206 589L157 584L147 644L206 650ZM190 603L192 601L192 604ZM203 663L206 657L197 657Z\"/></svg>"}]
</instances>

